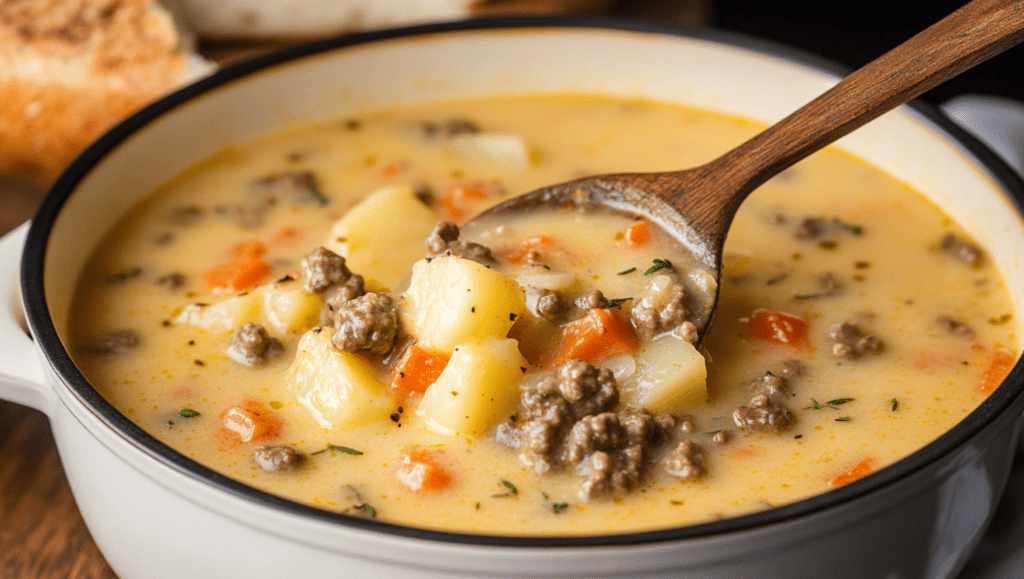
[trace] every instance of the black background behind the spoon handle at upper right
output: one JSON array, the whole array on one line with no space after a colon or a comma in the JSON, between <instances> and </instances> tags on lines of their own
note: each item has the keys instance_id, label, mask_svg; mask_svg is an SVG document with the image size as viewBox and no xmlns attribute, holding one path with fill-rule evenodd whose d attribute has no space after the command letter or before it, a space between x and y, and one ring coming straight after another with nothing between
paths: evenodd
<instances>
[{"instance_id":1,"label":"black background behind the spoon handle at upper right","mask_svg":"<svg viewBox=\"0 0 1024 579\"><path fill-rule=\"evenodd\" d=\"M648 2L626 2L644 4ZM858 68L955 11L967 2L890 0L710 0L712 27L774 40ZM1024 100L1024 44L926 93L933 104L964 93Z\"/></svg>"}]
</instances>

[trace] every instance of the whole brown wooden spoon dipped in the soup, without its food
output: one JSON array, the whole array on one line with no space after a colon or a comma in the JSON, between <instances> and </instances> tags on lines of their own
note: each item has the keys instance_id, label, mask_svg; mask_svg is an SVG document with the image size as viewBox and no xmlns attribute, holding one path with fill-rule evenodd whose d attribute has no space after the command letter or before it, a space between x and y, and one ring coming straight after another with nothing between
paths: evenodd
<instances>
[{"instance_id":1,"label":"whole brown wooden spoon dipped in the soup, without its food","mask_svg":"<svg viewBox=\"0 0 1024 579\"><path fill-rule=\"evenodd\" d=\"M722 246L739 204L797 161L926 90L1024 40L1024 0L974 0L714 161L664 173L600 175L541 189L473 219L514 212L601 205L648 216L721 281ZM473 226L471 223L467 225ZM703 337L718 285L688 303ZM692 294L692 287L687 290Z\"/></svg>"}]
</instances>

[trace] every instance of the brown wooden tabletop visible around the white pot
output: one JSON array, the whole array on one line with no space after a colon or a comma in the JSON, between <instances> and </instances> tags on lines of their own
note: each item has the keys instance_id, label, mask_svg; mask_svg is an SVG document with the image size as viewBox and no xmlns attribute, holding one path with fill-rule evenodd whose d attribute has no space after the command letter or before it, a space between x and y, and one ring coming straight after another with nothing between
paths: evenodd
<instances>
[{"instance_id":1,"label":"brown wooden tabletop visible around the white pot","mask_svg":"<svg viewBox=\"0 0 1024 579\"><path fill-rule=\"evenodd\" d=\"M706 24L707 0L623 2L616 15ZM204 47L230 60L260 47ZM0 235L26 221L42 194L0 176ZM0 345L2 347L2 345ZM0 401L0 579L117 579L82 521L47 418ZM228 578L230 579L230 578Z\"/></svg>"}]
</instances>

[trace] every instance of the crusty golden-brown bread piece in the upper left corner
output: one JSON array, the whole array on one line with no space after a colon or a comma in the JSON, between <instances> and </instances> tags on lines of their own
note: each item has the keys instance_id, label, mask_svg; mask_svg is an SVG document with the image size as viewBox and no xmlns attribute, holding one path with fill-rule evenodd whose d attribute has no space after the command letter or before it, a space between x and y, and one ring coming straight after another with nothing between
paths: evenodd
<instances>
[{"instance_id":1,"label":"crusty golden-brown bread piece in the upper left corner","mask_svg":"<svg viewBox=\"0 0 1024 579\"><path fill-rule=\"evenodd\" d=\"M116 122L212 68L156 0L0 1L0 173L48 187Z\"/></svg>"}]
</instances>

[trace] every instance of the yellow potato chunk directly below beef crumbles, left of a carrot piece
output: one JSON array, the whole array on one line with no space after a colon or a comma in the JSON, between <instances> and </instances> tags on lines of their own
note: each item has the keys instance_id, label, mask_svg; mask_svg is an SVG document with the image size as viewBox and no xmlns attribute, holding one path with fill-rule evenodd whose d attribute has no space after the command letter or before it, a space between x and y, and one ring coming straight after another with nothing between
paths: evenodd
<instances>
[{"instance_id":1,"label":"yellow potato chunk directly below beef crumbles, left of a carrot piece","mask_svg":"<svg viewBox=\"0 0 1024 579\"><path fill-rule=\"evenodd\" d=\"M330 330L321 330L299 339L287 375L295 399L328 429L387 420L395 406L377 369L358 355L332 347Z\"/></svg>"}]
</instances>

